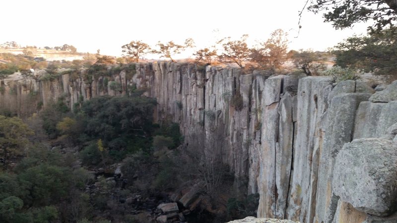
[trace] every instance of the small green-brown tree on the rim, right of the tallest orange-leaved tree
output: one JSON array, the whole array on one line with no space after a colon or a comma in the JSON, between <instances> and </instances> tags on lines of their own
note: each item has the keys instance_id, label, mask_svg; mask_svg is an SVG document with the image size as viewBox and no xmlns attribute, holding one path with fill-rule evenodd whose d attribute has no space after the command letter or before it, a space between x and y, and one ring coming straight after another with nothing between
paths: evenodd
<instances>
[{"instance_id":1,"label":"small green-brown tree on the rim, right of the tallest orange-leaved tree","mask_svg":"<svg viewBox=\"0 0 397 223\"><path fill-rule=\"evenodd\" d=\"M296 68L301 69L306 75L318 75L319 70L325 69L325 65L319 61L321 58L311 50L300 50L292 56Z\"/></svg>"}]
</instances>

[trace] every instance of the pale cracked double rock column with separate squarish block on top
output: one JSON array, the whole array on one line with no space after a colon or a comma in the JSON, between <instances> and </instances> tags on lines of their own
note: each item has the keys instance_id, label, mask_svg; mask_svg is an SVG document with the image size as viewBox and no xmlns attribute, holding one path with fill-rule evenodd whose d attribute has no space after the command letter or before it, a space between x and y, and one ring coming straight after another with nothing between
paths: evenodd
<instances>
[{"instance_id":1,"label":"pale cracked double rock column with separate squarish block on top","mask_svg":"<svg viewBox=\"0 0 397 223\"><path fill-rule=\"evenodd\" d=\"M258 217L285 218L293 154L296 86L297 79L292 76L280 75L265 80Z\"/></svg>"}]
</instances>

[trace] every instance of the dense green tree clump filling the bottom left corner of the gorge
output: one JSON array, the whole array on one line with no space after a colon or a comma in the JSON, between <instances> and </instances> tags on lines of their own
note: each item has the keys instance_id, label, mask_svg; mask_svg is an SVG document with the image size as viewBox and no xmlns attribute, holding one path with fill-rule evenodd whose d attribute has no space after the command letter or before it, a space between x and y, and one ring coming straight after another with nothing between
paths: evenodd
<instances>
[{"instance_id":1,"label":"dense green tree clump filling the bottom left corner of the gorge","mask_svg":"<svg viewBox=\"0 0 397 223\"><path fill-rule=\"evenodd\" d=\"M72 171L64 161L58 151L36 147L14 172L0 173L0 222L48 223L59 220L60 212L68 215L59 204L74 206L89 181L85 170Z\"/></svg>"}]
</instances>

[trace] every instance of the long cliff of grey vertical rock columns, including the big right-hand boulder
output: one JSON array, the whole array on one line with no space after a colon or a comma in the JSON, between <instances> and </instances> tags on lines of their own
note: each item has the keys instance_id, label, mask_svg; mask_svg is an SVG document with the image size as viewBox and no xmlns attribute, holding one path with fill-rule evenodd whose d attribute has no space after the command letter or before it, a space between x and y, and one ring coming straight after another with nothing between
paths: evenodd
<instances>
[{"instance_id":1,"label":"long cliff of grey vertical rock columns, including the big right-hand boulder","mask_svg":"<svg viewBox=\"0 0 397 223\"><path fill-rule=\"evenodd\" d=\"M158 122L178 122L190 149L228 164L241 193L260 194L258 217L397 222L397 81L375 92L359 80L169 62L90 78L12 75L1 81L0 109L28 116L59 99L73 109L136 86L157 98Z\"/></svg>"}]
</instances>

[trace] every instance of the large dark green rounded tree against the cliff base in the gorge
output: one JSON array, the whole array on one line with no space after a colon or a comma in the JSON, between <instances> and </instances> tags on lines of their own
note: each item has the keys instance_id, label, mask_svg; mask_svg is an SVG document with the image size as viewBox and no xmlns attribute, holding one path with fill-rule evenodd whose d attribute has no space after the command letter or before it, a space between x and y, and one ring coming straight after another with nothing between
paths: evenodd
<instances>
[{"instance_id":1,"label":"large dark green rounded tree against the cliff base in the gorge","mask_svg":"<svg viewBox=\"0 0 397 223\"><path fill-rule=\"evenodd\" d=\"M77 111L83 115L80 118L84 126L81 133L88 137L85 139L88 141L101 139L111 157L123 159L128 153L150 147L148 136L153 131L155 105L155 100L146 97L93 98ZM97 153L93 146L84 151L88 155Z\"/></svg>"}]
</instances>

